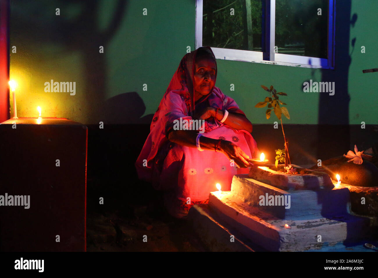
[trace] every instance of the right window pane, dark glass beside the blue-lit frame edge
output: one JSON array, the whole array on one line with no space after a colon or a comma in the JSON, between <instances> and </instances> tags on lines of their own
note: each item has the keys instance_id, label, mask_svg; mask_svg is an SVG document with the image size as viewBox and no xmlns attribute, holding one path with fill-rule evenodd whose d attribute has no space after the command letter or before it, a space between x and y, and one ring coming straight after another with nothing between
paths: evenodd
<instances>
[{"instance_id":1,"label":"right window pane, dark glass beside the blue-lit frame edge","mask_svg":"<svg viewBox=\"0 0 378 278\"><path fill-rule=\"evenodd\" d=\"M327 32L328 0L276 0L278 53L327 59Z\"/></svg>"}]
</instances>

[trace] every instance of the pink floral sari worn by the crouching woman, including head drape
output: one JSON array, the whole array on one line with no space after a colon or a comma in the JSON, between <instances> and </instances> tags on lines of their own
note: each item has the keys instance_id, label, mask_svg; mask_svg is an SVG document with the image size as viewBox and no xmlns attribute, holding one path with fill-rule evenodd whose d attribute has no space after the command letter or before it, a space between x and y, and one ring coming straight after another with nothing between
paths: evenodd
<instances>
[{"instance_id":1,"label":"pink floral sari worn by the crouching woman, including head drape","mask_svg":"<svg viewBox=\"0 0 378 278\"><path fill-rule=\"evenodd\" d=\"M214 56L210 47L203 48ZM214 107L245 115L234 99L215 86L194 104L194 61L198 49L187 53L181 60L153 116L150 134L135 163L139 179L151 182L155 189L167 191L165 205L175 217L186 216L196 203L206 203L209 193L217 190L216 183L220 183L223 191L228 191L235 174L249 172L249 168L238 168L229 162L221 152L201 152L197 148L172 143L167 138L174 120L191 120L194 109ZM204 130L203 136L231 141L249 157L259 155L256 141L246 130L233 129L214 118L205 121Z\"/></svg>"}]
</instances>

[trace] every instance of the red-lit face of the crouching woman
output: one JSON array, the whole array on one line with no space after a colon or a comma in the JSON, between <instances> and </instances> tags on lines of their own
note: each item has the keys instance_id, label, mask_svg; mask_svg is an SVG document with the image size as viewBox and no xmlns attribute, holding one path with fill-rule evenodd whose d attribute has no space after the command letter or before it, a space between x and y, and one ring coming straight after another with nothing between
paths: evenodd
<instances>
[{"instance_id":1,"label":"red-lit face of the crouching woman","mask_svg":"<svg viewBox=\"0 0 378 278\"><path fill-rule=\"evenodd\" d=\"M215 62L211 58L202 58L195 63L194 98L200 99L210 93L215 85Z\"/></svg>"}]
</instances>

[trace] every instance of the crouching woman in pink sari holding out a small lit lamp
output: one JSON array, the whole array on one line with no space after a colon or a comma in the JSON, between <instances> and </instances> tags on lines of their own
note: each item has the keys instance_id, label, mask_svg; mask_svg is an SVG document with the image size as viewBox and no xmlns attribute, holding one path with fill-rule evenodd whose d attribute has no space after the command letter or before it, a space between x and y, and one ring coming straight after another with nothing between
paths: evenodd
<instances>
[{"instance_id":1,"label":"crouching woman in pink sari holding out a small lit lamp","mask_svg":"<svg viewBox=\"0 0 378 278\"><path fill-rule=\"evenodd\" d=\"M234 99L215 87L216 77L210 47L183 57L135 163L139 179L166 191L164 204L178 218L192 205L206 203L217 183L229 191L235 174L248 173L247 159L259 156L251 122ZM184 120L204 120L203 129L177 128Z\"/></svg>"}]
</instances>

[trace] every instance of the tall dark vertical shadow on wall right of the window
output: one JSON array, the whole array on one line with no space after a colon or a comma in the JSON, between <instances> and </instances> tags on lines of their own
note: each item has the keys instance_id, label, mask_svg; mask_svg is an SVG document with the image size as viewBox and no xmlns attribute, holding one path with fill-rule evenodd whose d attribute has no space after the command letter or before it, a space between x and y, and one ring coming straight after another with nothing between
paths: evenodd
<instances>
[{"instance_id":1,"label":"tall dark vertical shadow on wall right of the window","mask_svg":"<svg viewBox=\"0 0 378 278\"><path fill-rule=\"evenodd\" d=\"M318 138L318 155L321 152L330 153L337 148L340 155L346 153L351 146L350 143L350 126L349 125L349 66L351 63L350 44L350 25L354 27L357 21L357 14L353 14L351 18L351 0L345 0L342 5L336 4L336 49L335 49L335 70L321 70L322 82L335 82L335 95L328 93L320 93L319 98L319 115L318 115L318 134L322 135ZM352 52L356 38L352 40ZM362 70L362 69L361 69ZM328 83L329 84L329 83ZM345 128L339 130L338 134L330 137L324 136L325 124L343 125ZM329 129L328 129L329 130ZM361 142L353 142L354 144ZM322 151L321 151L322 150ZM328 159L330 157L319 157Z\"/></svg>"}]
</instances>

